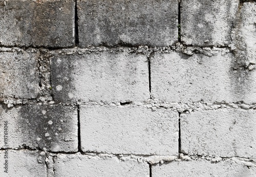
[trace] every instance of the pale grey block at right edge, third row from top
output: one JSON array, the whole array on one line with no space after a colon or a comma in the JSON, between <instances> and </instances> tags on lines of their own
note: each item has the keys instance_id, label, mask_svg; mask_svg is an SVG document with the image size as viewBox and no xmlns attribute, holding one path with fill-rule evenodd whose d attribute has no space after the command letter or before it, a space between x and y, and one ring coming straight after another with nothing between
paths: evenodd
<instances>
[{"instance_id":1,"label":"pale grey block at right edge, third row from top","mask_svg":"<svg viewBox=\"0 0 256 177\"><path fill-rule=\"evenodd\" d=\"M255 110L181 114L181 150L189 155L256 158Z\"/></svg>"}]
</instances>

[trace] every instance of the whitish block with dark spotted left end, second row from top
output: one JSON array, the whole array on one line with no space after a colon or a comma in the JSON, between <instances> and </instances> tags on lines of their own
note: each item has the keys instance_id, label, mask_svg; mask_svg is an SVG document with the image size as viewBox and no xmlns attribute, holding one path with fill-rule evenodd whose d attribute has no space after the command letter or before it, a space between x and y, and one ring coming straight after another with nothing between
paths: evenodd
<instances>
[{"instance_id":1,"label":"whitish block with dark spotted left end, second row from top","mask_svg":"<svg viewBox=\"0 0 256 177\"><path fill-rule=\"evenodd\" d=\"M61 102L129 102L150 97L147 58L143 55L55 54L51 70L53 96Z\"/></svg>"}]
</instances>

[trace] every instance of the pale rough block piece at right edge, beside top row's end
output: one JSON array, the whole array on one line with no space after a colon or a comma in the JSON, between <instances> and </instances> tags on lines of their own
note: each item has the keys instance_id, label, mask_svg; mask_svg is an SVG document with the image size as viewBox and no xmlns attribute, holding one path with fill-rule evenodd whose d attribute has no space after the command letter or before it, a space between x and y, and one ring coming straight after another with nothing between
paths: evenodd
<instances>
[{"instance_id":1,"label":"pale rough block piece at right edge, beside top row's end","mask_svg":"<svg viewBox=\"0 0 256 177\"><path fill-rule=\"evenodd\" d=\"M232 31L237 63L254 69L256 64L256 2L244 3Z\"/></svg>"}]
</instances>

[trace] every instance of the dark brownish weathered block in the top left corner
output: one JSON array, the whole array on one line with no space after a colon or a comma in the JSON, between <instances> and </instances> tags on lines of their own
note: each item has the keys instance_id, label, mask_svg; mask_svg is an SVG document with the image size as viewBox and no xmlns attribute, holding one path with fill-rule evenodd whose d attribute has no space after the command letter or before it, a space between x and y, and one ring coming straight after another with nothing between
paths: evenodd
<instances>
[{"instance_id":1,"label":"dark brownish weathered block in the top left corner","mask_svg":"<svg viewBox=\"0 0 256 177\"><path fill-rule=\"evenodd\" d=\"M0 45L74 46L75 1L0 0Z\"/></svg>"}]
</instances>

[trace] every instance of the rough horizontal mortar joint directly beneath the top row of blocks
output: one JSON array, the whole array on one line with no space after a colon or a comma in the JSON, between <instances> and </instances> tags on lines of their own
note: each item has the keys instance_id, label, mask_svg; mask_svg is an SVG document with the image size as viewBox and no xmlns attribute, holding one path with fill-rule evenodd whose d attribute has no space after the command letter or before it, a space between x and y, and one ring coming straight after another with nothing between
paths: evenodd
<instances>
[{"instance_id":1,"label":"rough horizontal mortar joint directly beneath the top row of blocks","mask_svg":"<svg viewBox=\"0 0 256 177\"><path fill-rule=\"evenodd\" d=\"M178 42L179 43L179 42ZM146 47L149 50L152 49L152 52L154 52L154 50L156 49L168 49L170 51L173 52L180 52L180 50L176 50L176 49L171 49L171 48L175 48L176 44L173 45L169 45L169 46L149 46L149 45L131 45L131 46L127 46L127 45L117 45L117 46L104 46L104 45L96 45L96 46L90 46L90 47L79 47L79 46L71 46L71 47L45 47L45 46L38 46L38 47L34 47L34 46L4 46L4 45L0 45L0 53L1 52L13 52L13 51L1 51L1 48L10 48L10 49L25 49L25 50L29 50L29 49L48 49L50 51L54 51L54 50L59 50L59 49L88 49L88 50L95 50L96 52L104 52L102 49L97 50L97 48L106 48L106 49L119 49L119 48L133 48L133 49L137 49L137 50L141 50L142 48ZM182 44L180 43L183 47L199 47L199 48L227 48L229 50L231 50L230 46L218 46L218 45L187 45L187 44ZM150 52L150 51L148 51ZM157 52L157 51L156 51Z\"/></svg>"}]
</instances>

